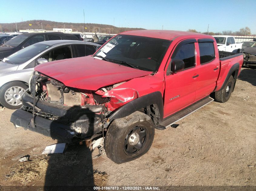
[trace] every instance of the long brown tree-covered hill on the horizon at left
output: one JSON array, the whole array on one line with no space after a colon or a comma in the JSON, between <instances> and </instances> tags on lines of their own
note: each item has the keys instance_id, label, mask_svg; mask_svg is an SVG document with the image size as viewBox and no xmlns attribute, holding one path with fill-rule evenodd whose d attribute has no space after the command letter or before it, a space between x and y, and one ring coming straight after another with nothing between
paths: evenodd
<instances>
[{"instance_id":1,"label":"long brown tree-covered hill on the horizon at left","mask_svg":"<svg viewBox=\"0 0 256 191\"><path fill-rule=\"evenodd\" d=\"M72 31L79 31L83 32L83 23L62 23L62 22L55 22L55 21L45 21L45 20L31 20L31 21L24 21L24 22L18 22L17 23L17 29L19 30L25 30L25 29L43 29L45 30L53 30L53 28L71 28ZM32 26L29 26L29 24L32 24ZM143 30L143 28L125 28L125 27L114 27L112 25L108 24L95 24L95 23L85 23L85 32L97 32L99 31L99 28L101 30L101 33L120 33L127 30ZM15 23L0 23L0 31L1 32L15 32L16 31L16 25Z\"/></svg>"}]
</instances>

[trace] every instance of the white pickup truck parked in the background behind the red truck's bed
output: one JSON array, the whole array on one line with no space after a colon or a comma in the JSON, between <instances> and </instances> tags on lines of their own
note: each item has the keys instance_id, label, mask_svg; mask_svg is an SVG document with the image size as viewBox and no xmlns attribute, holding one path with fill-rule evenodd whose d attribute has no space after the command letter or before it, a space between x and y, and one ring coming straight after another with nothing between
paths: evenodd
<instances>
[{"instance_id":1,"label":"white pickup truck parked in the background behind the red truck's bed","mask_svg":"<svg viewBox=\"0 0 256 191\"><path fill-rule=\"evenodd\" d=\"M215 35L213 36L217 42L219 51L226 51L232 53L240 53L243 43L236 43L233 36Z\"/></svg>"}]
</instances>

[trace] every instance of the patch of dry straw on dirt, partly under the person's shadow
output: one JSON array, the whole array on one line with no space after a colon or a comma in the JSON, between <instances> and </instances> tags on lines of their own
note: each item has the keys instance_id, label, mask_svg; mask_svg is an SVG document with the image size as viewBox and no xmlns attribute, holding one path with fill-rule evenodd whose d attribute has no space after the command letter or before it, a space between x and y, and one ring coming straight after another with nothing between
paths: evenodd
<instances>
[{"instance_id":1,"label":"patch of dry straw on dirt, partly under the person's shadow","mask_svg":"<svg viewBox=\"0 0 256 191\"><path fill-rule=\"evenodd\" d=\"M51 159L51 160L49 160ZM18 162L10 168L12 180L19 181L22 185L26 185L45 175L46 170L58 170L63 166L73 166L80 161L77 159L76 153L65 152L63 154L38 155L36 158L30 158L29 161Z\"/></svg>"}]
</instances>

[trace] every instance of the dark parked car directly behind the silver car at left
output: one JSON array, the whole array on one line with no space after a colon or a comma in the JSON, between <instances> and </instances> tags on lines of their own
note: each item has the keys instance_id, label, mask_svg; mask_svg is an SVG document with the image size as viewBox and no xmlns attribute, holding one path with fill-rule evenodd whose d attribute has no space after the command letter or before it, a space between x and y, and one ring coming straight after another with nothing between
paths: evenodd
<instances>
[{"instance_id":1,"label":"dark parked car directly behind the silver car at left","mask_svg":"<svg viewBox=\"0 0 256 191\"><path fill-rule=\"evenodd\" d=\"M0 59L3 59L11 54L30 46L47 40L79 40L73 34L67 33L26 33L20 34L17 37L7 41L0 47Z\"/></svg>"}]
</instances>

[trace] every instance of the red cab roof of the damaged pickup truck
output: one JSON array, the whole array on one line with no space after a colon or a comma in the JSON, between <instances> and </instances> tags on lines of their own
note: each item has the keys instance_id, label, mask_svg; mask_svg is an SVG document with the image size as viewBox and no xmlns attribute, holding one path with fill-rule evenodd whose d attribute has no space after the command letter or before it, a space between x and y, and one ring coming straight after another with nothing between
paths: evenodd
<instances>
[{"instance_id":1,"label":"red cab roof of the damaged pickup truck","mask_svg":"<svg viewBox=\"0 0 256 191\"><path fill-rule=\"evenodd\" d=\"M192 33L187 31L176 31L176 30L131 30L122 32L120 34L124 35L134 35L134 36L141 36L141 37L151 37L151 38L159 38L165 40L174 40L177 37L202 37L202 38L213 38L207 34L201 33Z\"/></svg>"}]
</instances>

